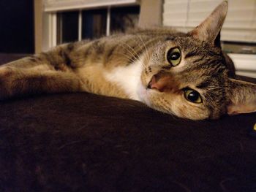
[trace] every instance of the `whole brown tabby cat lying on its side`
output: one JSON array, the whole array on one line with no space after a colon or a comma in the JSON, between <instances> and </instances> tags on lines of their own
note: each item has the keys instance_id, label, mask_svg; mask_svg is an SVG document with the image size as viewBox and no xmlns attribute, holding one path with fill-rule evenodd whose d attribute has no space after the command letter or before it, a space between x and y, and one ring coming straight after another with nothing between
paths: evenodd
<instances>
[{"instance_id":1,"label":"whole brown tabby cat lying on its side","mask_svg":"<svg viewBox=\"0 0 256 192\"><path fill-rule=\"evenodd\" d=\"M188 33L140 29L53 47L0 67L0 99L86 91L191 120L256 111L256 85L222 52L223 1Z\"/></svg>"}]
</instances>

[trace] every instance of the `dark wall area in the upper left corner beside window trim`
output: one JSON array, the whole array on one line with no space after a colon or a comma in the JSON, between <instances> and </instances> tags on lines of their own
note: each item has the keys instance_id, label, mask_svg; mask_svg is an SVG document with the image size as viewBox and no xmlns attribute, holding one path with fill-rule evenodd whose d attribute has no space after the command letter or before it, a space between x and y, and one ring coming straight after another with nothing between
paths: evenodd
<instances>
[{"instance_id":1,"label":"dark wall area in the upper left corner beside window trim","mask_svg":"<svg viewBox=\"0 0 256 192\"><path fill-rule=\"evenodd\" d=\"M0 53L34 53L33 0L0 0Z\"/></svg>"}]
</instances>

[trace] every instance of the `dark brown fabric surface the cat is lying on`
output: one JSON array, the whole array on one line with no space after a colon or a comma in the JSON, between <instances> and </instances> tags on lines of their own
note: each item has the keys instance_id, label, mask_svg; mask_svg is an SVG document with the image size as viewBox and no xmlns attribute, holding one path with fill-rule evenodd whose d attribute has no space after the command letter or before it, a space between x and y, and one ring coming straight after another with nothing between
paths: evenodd
<instances>
[{"instance_id":1,"label":"dark brown fabric surface the cat is lying on","mask_svg":"<svg viewBox=\"0 0 256 192\"><path fill-rule=\"evenodd\" d=\"M181 120L90 93L0 109L0 191L256 191L256 113Z\"/></svg>"}]
</instances>

